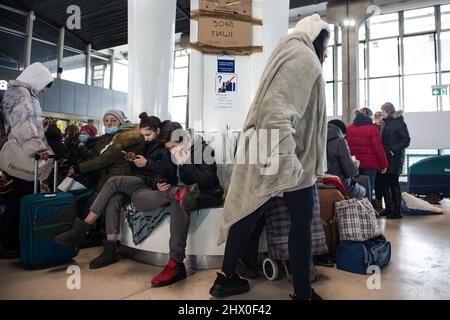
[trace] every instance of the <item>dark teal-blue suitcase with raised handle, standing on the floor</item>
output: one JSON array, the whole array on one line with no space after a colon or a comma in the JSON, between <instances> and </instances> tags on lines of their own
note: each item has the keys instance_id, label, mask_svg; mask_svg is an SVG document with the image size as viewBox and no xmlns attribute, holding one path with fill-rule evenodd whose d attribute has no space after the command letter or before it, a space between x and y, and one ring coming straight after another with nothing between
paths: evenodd
<instances>
[{"instance_id":1,"label":"dark teal-blue suitcase with raised handle, standing on the floor","mask_svg":"<svg viewBox=\"0 0 450 320\"><path fill-rule=\"evenodd\" d=\"M20 201L20 261L29 268L47 267L70 261L78 254L76 247L56 244L53 238L69 230L76 217L76 203L71 193L37 193L38 161L35 162L34 195Z\"/></svg>"}]
</instances>

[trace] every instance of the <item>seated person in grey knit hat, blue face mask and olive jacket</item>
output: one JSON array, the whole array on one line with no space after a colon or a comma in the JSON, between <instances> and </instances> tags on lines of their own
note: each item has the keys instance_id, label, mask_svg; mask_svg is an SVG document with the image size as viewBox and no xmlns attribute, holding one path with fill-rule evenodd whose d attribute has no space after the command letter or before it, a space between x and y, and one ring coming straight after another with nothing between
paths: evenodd
<instances>
[{"instance_id":1,"label":"seated person in grey knit hat, blue face mask and olive jacket","mask_svg":"<svg viewBox=\"0 0 450 320\"><path fill-rule=\"evenodd\" d=\"M132 170L122 151L136 152L142 144L137 128L128 121L120 110L109 110L103 116L105 134L98 137L93 147L91 160L74 165L71 174L91 174L98 172L97 193L113 176L129 176ZM84 139L84 138L83 138Z\"/></svg>"}]
</instances>

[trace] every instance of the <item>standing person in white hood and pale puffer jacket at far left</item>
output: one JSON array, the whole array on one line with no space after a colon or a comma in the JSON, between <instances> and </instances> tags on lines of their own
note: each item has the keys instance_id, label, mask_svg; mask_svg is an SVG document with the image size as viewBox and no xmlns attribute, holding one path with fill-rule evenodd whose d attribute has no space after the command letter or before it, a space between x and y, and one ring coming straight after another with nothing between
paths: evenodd
<instances>
[{"instance_id":1,"label":"standing person in white hood and pale puffer jacket at far left","mask_svg":"<svg viewBox=\"0 0 450 320\"><path fill-rule=\"evenodd\" d=\"M8 137L8 143L20 147L26 154L28 167L34 168L34 155L40 154L41 159L47 160L52 150L45 138L42 109L39 104L38 94L45 92L51 86L54 79L48 69L41 63L33 63L19 75L16 80L8 83L2 101L3 118ZM2 163L14 164L16 154L7 150L5 144L0 152ZM16 172L14 166L6 165L1 168L12 179L12 188L8 196L8 208L0 224L0 256L17 257L19 255L19 205L23 196L33 194L33 182L24 180L20 172Z\"/></svg>"}]
</instances>

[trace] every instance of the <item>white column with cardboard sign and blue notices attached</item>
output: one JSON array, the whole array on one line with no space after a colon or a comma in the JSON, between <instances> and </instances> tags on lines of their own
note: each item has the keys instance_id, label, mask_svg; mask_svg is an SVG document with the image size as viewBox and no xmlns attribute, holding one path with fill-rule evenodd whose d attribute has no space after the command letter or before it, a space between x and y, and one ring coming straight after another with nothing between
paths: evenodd
<instances>
[{"instance_id":1,"label":"white column with cardboard sign and blue notices attached","mask_svg":"<svg viewBox=\"0 0 450 320\"><path fill-rule=\"evenodd\" d=\"M191 0L191 10L199 8ZM235 56L237 74L236 103L233 108L216 107L217 54L191 50L189 66L189 126L199 131L223 133L227 128L241 130L258 89L268 58L279 40L287 34L289 0L253 0L252 16L262 19L263 26L253 26L253 45L263 46L262 53ZM197 41L198 22L191 21L191 42Z\"/></svg>"}]
</instances>

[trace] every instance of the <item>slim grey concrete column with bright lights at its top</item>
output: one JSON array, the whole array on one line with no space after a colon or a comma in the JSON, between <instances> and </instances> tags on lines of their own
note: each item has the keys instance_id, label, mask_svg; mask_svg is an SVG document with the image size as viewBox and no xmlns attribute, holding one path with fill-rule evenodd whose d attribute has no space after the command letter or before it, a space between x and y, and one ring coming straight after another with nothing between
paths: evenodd
<instances>
[{"instance_id":1,"label":"slim grey concrete column with bright lights at its top","mask_svg":"<svg viewBox=\"0 0 450 320\"><path fill-rule=\"evenodd\" d=\"M342 120L350 123L359 107L359 27L373 14L373 1L331 2L327 20L342 28Z\"/></svg>"}]
</instances>

